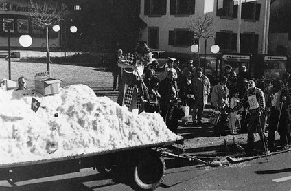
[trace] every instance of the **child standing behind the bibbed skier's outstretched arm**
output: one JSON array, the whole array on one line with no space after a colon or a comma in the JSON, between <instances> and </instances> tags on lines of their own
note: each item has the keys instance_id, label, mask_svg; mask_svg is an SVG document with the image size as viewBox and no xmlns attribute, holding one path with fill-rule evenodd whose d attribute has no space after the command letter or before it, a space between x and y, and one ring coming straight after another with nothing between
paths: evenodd
<instances>
[{"instance_id":1,"label":"child standing behind the bibbed skier's outstretched arm","mask_svg":"<svg viewBox=\"0 0 291 191\"><path fill-rule=\"evenodd\" d=\"M233 89L233 92L231 93L231 101L229 102L229 106L231 108L234 108L238 102L240 102L239 91L236 89ZM240 129L240 114L239 113L240 111L229 113L229 130L231 131L232 135L237 134L237 130Z\"/></svg>"}]
</instances>

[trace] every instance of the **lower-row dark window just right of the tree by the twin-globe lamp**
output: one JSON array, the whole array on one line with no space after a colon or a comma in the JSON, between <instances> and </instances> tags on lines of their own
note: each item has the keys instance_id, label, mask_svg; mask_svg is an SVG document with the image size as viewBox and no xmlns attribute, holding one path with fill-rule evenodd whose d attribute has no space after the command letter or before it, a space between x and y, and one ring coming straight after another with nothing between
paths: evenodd
<instances>
[{"instance_id":1,"label":"lower-row dark window just right of the tree by the twin-globe lamp","mask_svg":"<svg viewBox=\"0 0 291 191\"><path fill-rule=\"evenodd\" d=\"M222 51L236 51L237 34L233 32L216 32L216 43Z\"/></svg>"}]
</instances>

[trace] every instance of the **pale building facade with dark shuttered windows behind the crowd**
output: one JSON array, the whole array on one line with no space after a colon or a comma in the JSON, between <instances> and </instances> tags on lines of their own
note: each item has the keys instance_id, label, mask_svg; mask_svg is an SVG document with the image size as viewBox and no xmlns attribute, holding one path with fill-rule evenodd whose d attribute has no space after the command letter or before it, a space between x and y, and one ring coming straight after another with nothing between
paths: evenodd
<instances>
[{"instance_id":1,"label":"pale building facade with dark shuttered windows behind the crowd","mask_svg":"<svg viewBox=\"0 0 291 191\"><path fill-rule=\"evenodd\" d=\"M266 53L269 5L270 0L141 0L140 17L148 27L139 40L165 52L193 54L190 47L197 39L189 31L191 19L208 14L213 17L216 42L209 38L205 52L205 41L200 38L200 54L211 54L215 43L220 53Z\"/></svg>"}]
</instances>

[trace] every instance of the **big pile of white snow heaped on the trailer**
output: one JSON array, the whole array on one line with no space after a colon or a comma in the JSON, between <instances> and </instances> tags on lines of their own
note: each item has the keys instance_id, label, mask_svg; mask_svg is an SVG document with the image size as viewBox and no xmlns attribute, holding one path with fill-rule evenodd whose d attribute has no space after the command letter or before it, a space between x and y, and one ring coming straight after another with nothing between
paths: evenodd
<instances>
[{"instance_id":1,"label":"big pile of white snow heaped on the trailer","mask_svg":"<svg viewBox=\"0 0 291 191\"><path fill-rule=\"evenodd\" d=\"M0 89L0 128L0 165L182 139L158 113L131 113L86 85L51 96Z\"/></svg>"}]
</instances>

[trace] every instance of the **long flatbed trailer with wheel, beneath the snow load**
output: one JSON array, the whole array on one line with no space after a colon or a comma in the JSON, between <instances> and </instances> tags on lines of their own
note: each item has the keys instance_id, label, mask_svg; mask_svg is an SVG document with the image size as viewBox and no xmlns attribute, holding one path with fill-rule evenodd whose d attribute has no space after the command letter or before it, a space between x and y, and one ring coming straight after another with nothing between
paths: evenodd
<instances>
[{"instance_id":1,"label":"long flatbed trailer with wheel, beneath the snow load","mask_svg":"<svg viewBox=\"0 0 291 191\"><path fill-rule=\"evenodd\" d=\"M0 164L0 180L25 181L93 167L100 173L114 171L121 174L135 190L154 190L165 177L165 161L157 148L172 144L183 144L183 139L70 157Z\"/></svg>"}]
</instances>

